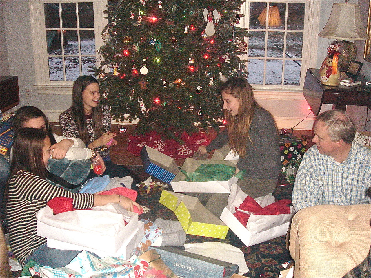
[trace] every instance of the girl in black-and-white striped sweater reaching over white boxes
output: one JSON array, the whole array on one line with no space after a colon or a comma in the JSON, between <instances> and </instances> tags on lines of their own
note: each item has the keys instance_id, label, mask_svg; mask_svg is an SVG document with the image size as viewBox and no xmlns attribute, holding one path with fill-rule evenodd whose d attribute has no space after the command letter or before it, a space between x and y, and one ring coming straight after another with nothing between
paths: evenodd
<instances>
[{"instance_id":1,"label":"girl in black-and-white striped sweater reaching over white boxes","mask_svg":"<svg viewBox=\"0 0 371 278\"><path fill-rule=\"evenodd\" d=\"M47 182L45 172L52 154L50 146L46 132L36 128L20 129L14 139L11 174L5 192L6 216L10 248L23 266L32 258L41 265L64 267L80 252L49 248L46 238L37 236L35 214L50 199L72 198L76 209L107 203L119 203L128 211L133 211L133 206L140 208L124 196L72 193Z\"/></svg>"}]
</instances>

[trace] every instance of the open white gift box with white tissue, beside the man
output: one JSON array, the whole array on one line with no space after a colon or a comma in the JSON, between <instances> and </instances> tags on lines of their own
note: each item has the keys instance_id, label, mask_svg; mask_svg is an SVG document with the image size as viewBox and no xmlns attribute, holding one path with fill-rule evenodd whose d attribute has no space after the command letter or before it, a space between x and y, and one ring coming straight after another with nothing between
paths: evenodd
<instances>
[{"instance_id":1,"label":"open white gift box with white tissue, beside the man","mask_svg":"<svg viewBox=\"0 0 371 278\"><path fill-rule=\"evenodd\" d=\"M246 227L233 215L240 204L247 197L242 189L234 184L228 198L228 205L220 215L220 219L242 240L246 246L252 246L267 241L278 236L286 235L291 218L293 216L293 207L290 208L290 214L277 215L254 215L251 214ZM255 201L260 206L265 207L275 201L272 194L256 198Z\"/></svg>"}]
</instances>

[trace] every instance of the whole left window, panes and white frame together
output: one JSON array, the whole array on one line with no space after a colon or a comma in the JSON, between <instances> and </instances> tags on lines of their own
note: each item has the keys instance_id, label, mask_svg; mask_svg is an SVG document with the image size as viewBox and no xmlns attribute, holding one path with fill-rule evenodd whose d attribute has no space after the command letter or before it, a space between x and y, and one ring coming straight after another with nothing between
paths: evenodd
<instances>
[{"instance_id":1,"label":"whole left window, panes and white frame together","mask_svg":"<svg viewBox=\"0 0 371 278\"><path fill-rule=\"evenodd\" d=\"M103 44L106 1L30 1L36 76L41 93L70 93L80 75L92 75Z\"/></svg>"}]
</instances>

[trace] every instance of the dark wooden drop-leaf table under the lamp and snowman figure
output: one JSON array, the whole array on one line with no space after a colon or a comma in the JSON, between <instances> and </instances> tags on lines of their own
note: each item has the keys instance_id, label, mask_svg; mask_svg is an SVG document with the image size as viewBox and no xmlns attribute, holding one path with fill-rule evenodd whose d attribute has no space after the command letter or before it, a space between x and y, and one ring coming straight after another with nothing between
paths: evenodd
<instances>
[{"instance_id":1,"label":"dark wooden drop-leaf table under the lamp and snowman figure","mask_svg":"<svg viewBox=\"0 0 371 278\"><path fill-rule=\"evenodd\" d=\"M358 80L368 81L363 75L359 76ZM319 69L306 71L303 95L315 116L321 110L322 103L332 104L332 109L341 109L344 112L347 105L361 105L371 109L371 93L367 92L363 85L351 87L322 85L319 80Z\"/></svg>"}]
</instances>

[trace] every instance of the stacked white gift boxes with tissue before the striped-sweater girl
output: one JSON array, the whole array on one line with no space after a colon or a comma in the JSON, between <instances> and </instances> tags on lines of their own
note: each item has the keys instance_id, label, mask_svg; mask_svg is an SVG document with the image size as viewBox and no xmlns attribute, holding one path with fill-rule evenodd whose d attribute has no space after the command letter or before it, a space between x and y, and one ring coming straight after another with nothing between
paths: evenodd
<instances>
[{"instance_id":1,"label":"stacked white gift boxes with tissue before the striped-sweater girl","mask_svg":"<svg viewBox=\"0 0 371 278\"><path fill-rule=\"evenodd\" d=\"M138 214L118 204L56 215L45 206L36 218L37 235L47 238L49 247L92 251L101 257L129 256L144 236L144 223L138 221ZM126 225L124 219L128 221Z\"/></svg>"}]
</instances>

